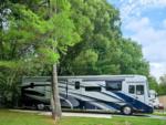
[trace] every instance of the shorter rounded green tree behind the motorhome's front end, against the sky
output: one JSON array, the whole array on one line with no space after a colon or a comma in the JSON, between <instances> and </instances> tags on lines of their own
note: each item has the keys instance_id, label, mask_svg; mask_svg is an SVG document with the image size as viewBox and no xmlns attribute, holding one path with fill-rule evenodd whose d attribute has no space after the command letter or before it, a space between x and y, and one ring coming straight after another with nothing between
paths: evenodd
<instances>
[{"instance_id":1,"label":"shorter rounded green tree behind the motorhome's front end, against the sky","mask_svg":"<svg viewBox=\"0 0 166 125\"><path fill-rule=\"evenodd\" d=\"M120 65L122 74L149 75L149 64L144 60L142 46L139 44L131 39L123 40L121 50Z\"/></svg>"}]
</instances>

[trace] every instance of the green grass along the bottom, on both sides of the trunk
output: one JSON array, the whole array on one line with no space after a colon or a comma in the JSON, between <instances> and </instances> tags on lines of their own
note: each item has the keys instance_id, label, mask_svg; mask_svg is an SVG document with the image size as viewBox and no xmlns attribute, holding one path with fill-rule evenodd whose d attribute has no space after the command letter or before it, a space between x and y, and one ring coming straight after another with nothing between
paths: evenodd
<instances>
[{"instance_id":1,"label":"green grass along the bottom, on both sides of the trunk","mask_svg":"<svg viewBox=\"0 0 166 125\"><path fill-rule=\"evenodd\" d=\"M49 116L0 110L0 125L53 125ZM166 125L166 121L146 117L84 118L62 117L56 125Z\"/></svg>"}]
</instances>

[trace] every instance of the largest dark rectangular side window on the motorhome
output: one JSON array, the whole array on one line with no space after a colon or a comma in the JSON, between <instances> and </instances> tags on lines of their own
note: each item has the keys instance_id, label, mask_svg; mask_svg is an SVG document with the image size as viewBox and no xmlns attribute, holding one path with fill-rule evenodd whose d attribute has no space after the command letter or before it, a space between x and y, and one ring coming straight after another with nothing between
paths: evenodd
<instances>
[{"instance_id":1,"label":"largest dark rectangular side window on the motorhome","mask_svg":"<svg viewBox=\"0 0 166 125\"><path fill-rule=\"evenodd\" d=\"M122 91L122 81L106 81L106 91Z\"/></svg>"}]
</instances>

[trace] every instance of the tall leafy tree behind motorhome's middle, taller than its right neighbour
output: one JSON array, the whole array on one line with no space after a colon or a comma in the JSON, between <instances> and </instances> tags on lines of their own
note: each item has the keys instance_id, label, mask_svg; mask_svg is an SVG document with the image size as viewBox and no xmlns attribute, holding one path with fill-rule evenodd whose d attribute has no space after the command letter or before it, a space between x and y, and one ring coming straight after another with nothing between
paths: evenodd
<instances>
[{"instance_id":1,"label":"tall leafy tree behind motorhome's middle, taller than its right neighbour","mask_svg":"<svg viewBox=\"0 0 166 125\"><path fill-rule=\"evenodd\" d=\"M81 35L81 42L70 48L66 55L61 58L59 73L118 74L121 72L117 63L118 39L121 38L118 11L105 0L70 0L70 3L72 20ZM77 61L83 61L85 58L82 53L89 50L95 53L93 58L92 54L89 58L96 59L97 56L96 63L92 61L93 64L84 63L77 67Z\"/></svg>"}]
</instances>

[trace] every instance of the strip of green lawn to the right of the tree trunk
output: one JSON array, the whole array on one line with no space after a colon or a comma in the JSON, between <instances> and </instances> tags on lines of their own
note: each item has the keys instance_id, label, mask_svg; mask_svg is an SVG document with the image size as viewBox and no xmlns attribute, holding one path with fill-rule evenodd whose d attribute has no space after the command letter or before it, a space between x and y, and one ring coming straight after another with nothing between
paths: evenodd
<instances>
[{"instance_id":1,"label":"strip of green lawn to the right of the tree trunk","mask_svg":"<svg viewBox=\"0 0 166 125\"><path fill-rule=\"evenodd\" d=\"M166 125L166 121L143 117L79 118L64 117L59 125Z\"/></svg>"}]
</instances>

